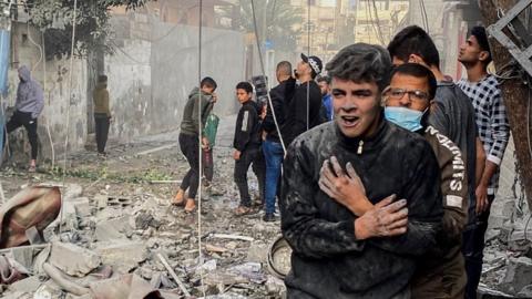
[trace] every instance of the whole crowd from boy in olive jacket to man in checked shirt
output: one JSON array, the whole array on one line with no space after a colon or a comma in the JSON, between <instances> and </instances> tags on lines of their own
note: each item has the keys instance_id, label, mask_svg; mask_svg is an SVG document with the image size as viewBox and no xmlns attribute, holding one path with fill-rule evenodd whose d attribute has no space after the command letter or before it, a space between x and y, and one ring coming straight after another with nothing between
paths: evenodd
<instances>
[{"instance_id":1,"label":"whole crowd from boy in olive jacket to man in checked shirt","mask_svg":"<svg viewBox=\"0 0 532 299\"><path fill-rule=\"evenodd\" d=\"M487 71L484 28L472 28L458 59L468 78L454 83L432 39L412 25L386 50L344 48L327 76L316 56L301 54L294 72L279 62L266 107L252 84L236 85L235 214L253 212L253 166L264 220L275 220L279 199L293 248L289 298L477 298L510 127ZM184 111L180 145L191 171L174 203L188 212L215 87L204 79Z\"/></svg>"}]
</instances>

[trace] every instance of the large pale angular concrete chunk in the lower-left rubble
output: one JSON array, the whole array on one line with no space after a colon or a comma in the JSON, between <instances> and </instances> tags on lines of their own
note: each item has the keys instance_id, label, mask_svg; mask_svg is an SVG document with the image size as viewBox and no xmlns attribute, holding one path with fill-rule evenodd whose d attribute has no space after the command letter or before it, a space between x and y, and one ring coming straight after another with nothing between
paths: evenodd
<instances>
[{"instance_id":1,"label":"large pale angular concrete chunk in the lower-left rubble","mask_svg":"<svg viewBox=\"0 0 532 299\"><path fill-rule=\"evenodd\" d=\"M98 268L102 259L95 252L76 245L53 243L49 262L68 275L83 277Z\"/></svg>"}]
</instances>

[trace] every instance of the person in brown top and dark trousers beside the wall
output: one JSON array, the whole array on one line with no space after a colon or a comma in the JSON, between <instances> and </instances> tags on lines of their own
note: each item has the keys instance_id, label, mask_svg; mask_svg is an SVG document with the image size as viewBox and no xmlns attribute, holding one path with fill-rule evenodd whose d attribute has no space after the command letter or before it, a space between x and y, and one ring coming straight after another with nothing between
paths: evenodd
<instances>
[{"instance_id":1,"label":"person in brown top and dark trousers beside the wall","mask_svg":"<svg viewBox=\"0 0 532 299\"><path fill-rule=\"evenodd\" d=\"M92 93L94 100L94 123L96 133L98 155L105 157L105 144L108 143L109 126L111 124L111 110L109 107L108 76L98 78L96 87Z\"/></svg>"}]
</instances>

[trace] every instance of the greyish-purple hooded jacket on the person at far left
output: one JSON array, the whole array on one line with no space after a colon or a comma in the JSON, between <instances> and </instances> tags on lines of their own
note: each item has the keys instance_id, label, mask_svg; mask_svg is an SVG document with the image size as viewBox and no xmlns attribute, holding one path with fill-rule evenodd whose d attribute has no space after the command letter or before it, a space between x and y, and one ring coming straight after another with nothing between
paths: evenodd
<instances>
[{"instance_id":1,"label":"greyish-purple hooded jacket on the person at far left","mask_svg":"<svg viewBox=\"0 0 532 299\"><path fill-rule=\"evenodd\" d=\"M39 117L44 107L44 96L41 85L31 78L28 66L19 68L20 83L17 89L17 101L14 107L17 111L31 113L34 120Z\"/></svg>"}]
</instances>

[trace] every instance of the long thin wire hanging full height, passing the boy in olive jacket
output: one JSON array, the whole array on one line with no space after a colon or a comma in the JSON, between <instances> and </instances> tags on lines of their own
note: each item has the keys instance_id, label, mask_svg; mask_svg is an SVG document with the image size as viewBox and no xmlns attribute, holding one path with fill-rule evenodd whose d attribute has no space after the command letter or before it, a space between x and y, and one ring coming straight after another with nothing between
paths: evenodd
<instances>
[{"instance_id":1,"label":"long thin wire hanging full height, passing the boy in olive jacket","mask_svg":"<svg viewBox=\"0 0 532 299\"><path fill-rule=\"evenodd\" d=\"M198 122L198 169L197 169L197 251L198 251L198 265L203 265L203 250L202 250L202 183L203 183L203 177L202 177L202 169L203 169L203 161L202 161L202 155L203 155L203 147L202 147L202 130L203 130L203 123L202 123L202 103L203 103L203 92L202 92L202 35L203 35L203 0L200 0L200 28L198 28L198 42L197 42L197 49L198 49L198 55L197 55L197 82L200 86L200 97L198 103L197 103L197 122ZM203 285L203 269L200 270L200 282L202 285L202 293L203 297L205 297L205 286Z\"/></svg>"}]
</instances>

